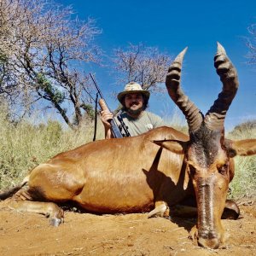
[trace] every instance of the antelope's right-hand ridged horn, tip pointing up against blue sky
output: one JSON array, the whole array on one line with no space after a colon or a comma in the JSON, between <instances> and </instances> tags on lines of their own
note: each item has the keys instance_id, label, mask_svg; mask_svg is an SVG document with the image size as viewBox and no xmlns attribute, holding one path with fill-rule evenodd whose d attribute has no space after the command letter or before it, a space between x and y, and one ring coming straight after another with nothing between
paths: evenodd
<instances>
[{"instance_id":1,"label":"antelope's right-hand ridged horn, tip pointing up against blue sky","mask_svg":"<svg viewBox=\"0 0 256 256\"><path fill-rule=\"evenodd\" d=\"M218 99L213 103L205 117L207 127L212 130L224 128L224 119L230 104L236 96L239 83L236 68L227 56L224 47L217 42L217 54L214 57L214 67L223 84L222 91L218 94Z\"/></svg>"}]
</instances>

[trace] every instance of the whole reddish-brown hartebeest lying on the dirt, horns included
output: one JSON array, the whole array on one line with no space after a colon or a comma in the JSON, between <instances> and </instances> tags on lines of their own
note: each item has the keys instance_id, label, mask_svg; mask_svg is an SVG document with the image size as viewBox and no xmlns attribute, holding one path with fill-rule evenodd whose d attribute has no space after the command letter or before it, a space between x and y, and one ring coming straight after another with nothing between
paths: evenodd
<instances>
[{"instance_id":1,"label":"whole reddish-brown hartebeest lying on the dirt, horns included","mask_svg":"<svg viewBox=\"0 0 256 256\"><path fill-rule=\"evenodd\" d=\"M238 80L236 69L218 44L214 65L223 90L204 116L183 94L180 75L183 50L172 62L166 87L183 111L189 137L160 127L138 137L87 143L57 154L34 168L9 203L22 211L40 212L58 225L63 211L56 203L74 201L90 212L167 214L169 207L195 195L198 220L193 229L199 245L217 248L224 241L221 215L236 154L256 153L256 139L224 138L224 118ZM2 196L3 198L3 196ZM172 215L172 212L171 212Z\"/></svg>"}]
</instances>

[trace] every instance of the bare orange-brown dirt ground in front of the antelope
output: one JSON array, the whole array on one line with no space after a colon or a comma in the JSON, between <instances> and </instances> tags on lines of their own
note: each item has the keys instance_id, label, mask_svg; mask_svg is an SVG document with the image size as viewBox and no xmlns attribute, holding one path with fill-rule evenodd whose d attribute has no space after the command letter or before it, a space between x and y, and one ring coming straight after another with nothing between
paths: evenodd
<instances>
[{"instance_id":1,"label":"bare orange-brown dirt ground in front of the antelope","mask_svg":"<svg viewBox=\"0 0 256 256\"><path fill-rule=\"evenodd\" d=\"M147 214L66 212L49 226L44 216L15 212L0 202L0 255L256 255L256 204L241 203L241 218L223 220L230 234L218 250L188 238L195 219L147 218Z\"/></svg>"}]
</instances>

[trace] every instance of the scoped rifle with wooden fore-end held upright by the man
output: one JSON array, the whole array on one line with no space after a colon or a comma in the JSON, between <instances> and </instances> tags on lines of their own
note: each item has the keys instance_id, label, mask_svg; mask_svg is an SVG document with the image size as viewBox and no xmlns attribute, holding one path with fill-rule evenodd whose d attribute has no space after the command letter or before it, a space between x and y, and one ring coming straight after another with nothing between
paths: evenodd
<instances>
[{"instance_id":1,"label":"scoped rifle with wooden fore-end held upright by the man","mask_svg":"<svg viewBox=\"0 0 256 256\"><path fill-rule=\"evenodd\" d=\"M90 78L95 84L98 94L101 96L101 99L99 100L100 107L102 108L102 110L108 110L108 112L111 112L110 108L108 108L107 102L104 99L104 96L102 95L102 91L100 90L98 84L96 83L96 80L94 79L91 73L90 73ZM131 137L130 132L127 130L127 126L125 125L123 119L119 115L118 115L118 119L120 122L120 126L117 125L115 119L108 120L111 125L111 131L112 131L113 137ZM121 132L122 130L125 131L124 134L122 134Z\"/></svg>"}]
</instances>

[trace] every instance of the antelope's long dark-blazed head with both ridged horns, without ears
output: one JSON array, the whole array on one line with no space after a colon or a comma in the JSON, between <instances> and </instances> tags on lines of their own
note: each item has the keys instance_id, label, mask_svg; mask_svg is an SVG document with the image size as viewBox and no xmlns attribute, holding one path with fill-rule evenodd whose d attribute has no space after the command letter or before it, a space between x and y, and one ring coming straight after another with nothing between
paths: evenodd
<instances>
[{"instance_id":1,"label":"antelope's long dark-blazed head with both ridged horns, without ears","mask_svg":"<svg viewBox=\"0 0 256 256\"><path fill-rule=\"evenodd\" d=\"M221 215L234 172L234 168L230 167L230 150L224 139L224 119L238 89L237 73L223 46L218 44L214 66L223 83L223 89L209 111L203 115L195 104L189 101L189 97L184 95L180 86L186 50L177 55L169 67L166 88L189 125L189 142L183 143L181 147L197 201L196 238L202 247L218 248L224 241Z\"/></svg>"}]
</instances>

